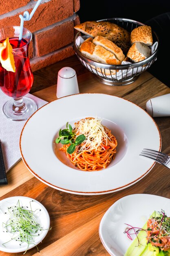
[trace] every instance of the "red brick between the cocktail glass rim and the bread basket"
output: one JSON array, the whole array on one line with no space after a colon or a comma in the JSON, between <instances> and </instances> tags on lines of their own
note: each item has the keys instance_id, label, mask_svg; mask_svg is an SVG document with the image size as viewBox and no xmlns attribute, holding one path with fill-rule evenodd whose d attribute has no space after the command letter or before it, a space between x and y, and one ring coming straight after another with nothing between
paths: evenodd
<instances>
[{"instance_id":1,"label":"red brick between the cocktail glass rim and the bread basket","mask_svg":"<svg viewBox=\"0 0 170 256\"><path fill-rule=\"evenodd\" d=\"M74 22L68 21L61 25L45 30L39 33L35 32L36 55L43 56L54 52L74 40Z\"/></svg>"}]
</instances>

